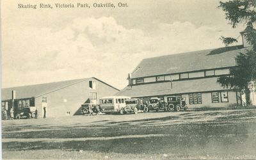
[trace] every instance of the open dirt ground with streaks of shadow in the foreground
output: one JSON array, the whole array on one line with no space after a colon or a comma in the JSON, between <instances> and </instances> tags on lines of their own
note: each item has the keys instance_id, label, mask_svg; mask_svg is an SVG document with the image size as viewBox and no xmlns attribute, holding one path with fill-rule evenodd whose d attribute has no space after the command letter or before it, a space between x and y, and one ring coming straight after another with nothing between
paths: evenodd
<instances>
[{"instance_id":1,"label":"open dirt ground with streaks of shadow in the foreground","mask_svg":"<svg viewBox=\"0 0 256 160\"><path fill-rule=\"evenodd\" d=\"M3 159L256 159L256 109L2 121Z\"/></svg>"}]
</instances>

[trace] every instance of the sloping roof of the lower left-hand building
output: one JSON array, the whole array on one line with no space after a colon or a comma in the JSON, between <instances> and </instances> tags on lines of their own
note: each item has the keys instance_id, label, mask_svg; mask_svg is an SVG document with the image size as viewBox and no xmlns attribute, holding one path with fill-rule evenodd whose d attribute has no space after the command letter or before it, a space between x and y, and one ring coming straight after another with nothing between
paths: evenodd
<instances>
[{"instance_id":1,"label":"sloping roof of the lower left-hand building","mask_svg":"<svg viewBox=\"0 0 256 160\"><path fill-rule=\"evenodd\" d=\"M95 77L92 78L83 78L83 79L72 79L68 81L60 81L60 82L54 82L54 83L44 83L44 84L34 84L34 85L28 85L28 86L17 86L12 88L2 88L1 94L2 99L12 99L12 90L15 90L16 92L16 99L24 99L29 97L39 97L41 95L44 95L46 93L51 93L57 90L61 90L62 88L66 88L68 86L71 86L73 84L77 84L83 81L87 81L89 79L97 79ZM100 81L99 79L97 79ZM100 81L102 82L102 81ZM102 82L104 83L104 82ZM104 83L106 84L106 83ZM109 84L107 84L110 86ZM114 88L113 86L111 86ZM114 88L116 89L116 88ZM118 89L116 89L118 90Z\"/></svg>"}]
</instances>

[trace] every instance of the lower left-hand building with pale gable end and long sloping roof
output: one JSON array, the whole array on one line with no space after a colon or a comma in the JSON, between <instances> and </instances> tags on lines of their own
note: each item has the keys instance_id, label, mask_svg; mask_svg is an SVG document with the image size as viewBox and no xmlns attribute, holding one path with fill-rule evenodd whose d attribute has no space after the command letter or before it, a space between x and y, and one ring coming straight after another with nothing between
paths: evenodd
<instances>
[{"instance_id":1,"label":"lower left-hand building with pale gable end and long sloping roof","mask_svg":"<svg viewBox=\"0 0 256 160\"><path fill-rule=\"evenodd\" d=\"M18 109L35 106L38 118L58 117L81 114L81 104L91 102L98 104L100 97L115 95L119 90L95 77L74 79L55 83L35 84L3 88L2 111L4 108ZM12 95L12 93L15 95ZM14 97L13 97L14 96Z\"/></svg>"}]
</instances>

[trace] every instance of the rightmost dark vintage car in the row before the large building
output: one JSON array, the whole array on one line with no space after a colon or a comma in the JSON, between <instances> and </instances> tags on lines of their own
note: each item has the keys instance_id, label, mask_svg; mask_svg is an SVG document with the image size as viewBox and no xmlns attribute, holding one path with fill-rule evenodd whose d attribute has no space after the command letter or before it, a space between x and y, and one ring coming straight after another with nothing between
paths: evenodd
<instances>
[{"instance_id":1,"label":"rightmost dark vintage car in the row before the large building","mask_svg":"<svg viewBox=\"0 0 256 160\"><path fill-rule=\"evenodd\" d=\"M188 105L186 104L185 97L180 96L168 96L167 98L167 105L168 111L180 111L180 109L188 109Z\"/></svg>"}]
</instances>

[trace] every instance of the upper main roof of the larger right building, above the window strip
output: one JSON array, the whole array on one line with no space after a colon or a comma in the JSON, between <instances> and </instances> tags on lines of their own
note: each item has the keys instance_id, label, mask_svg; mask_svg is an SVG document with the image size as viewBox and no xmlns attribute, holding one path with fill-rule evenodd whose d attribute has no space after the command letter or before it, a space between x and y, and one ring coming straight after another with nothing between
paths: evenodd
<instances>
[{"instance_id":1,"label":"upper main roof of the larger right building, above the window strip","mask_svg":"<svg viewBox=\"0 0 256 160\"><path fill-rule=\"evenodd\" d=\"M235 57L246 51L242 45L147 58L134 69L131 78L175 74L195 70L234 67Z\"/></svg>"}]
</instances>

